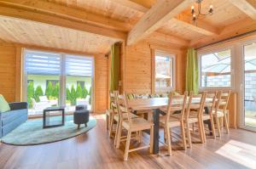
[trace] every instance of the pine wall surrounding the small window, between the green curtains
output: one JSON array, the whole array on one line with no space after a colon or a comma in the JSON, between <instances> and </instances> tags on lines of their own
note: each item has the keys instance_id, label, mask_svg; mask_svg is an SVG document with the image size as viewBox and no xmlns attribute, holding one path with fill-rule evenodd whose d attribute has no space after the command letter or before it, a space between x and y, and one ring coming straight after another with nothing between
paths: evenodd
<instances>
[{"instance_id":1,"label":"pine wall surrounding the small window, between the green curtains","mask_svg":"<svg viewBox=\"0 0 256 169\"><path fill-rule=\"evenodd\" d=\"M173 48L172 45L163 45L155 42L143 41L133 46L123 46L125 60L121 74L123 87L127 93L154 93L152 87L152 54L154 50L165 51L176 55L176 90L183 93L185 88L186 49Z\"/></svg>"}]
</instances>

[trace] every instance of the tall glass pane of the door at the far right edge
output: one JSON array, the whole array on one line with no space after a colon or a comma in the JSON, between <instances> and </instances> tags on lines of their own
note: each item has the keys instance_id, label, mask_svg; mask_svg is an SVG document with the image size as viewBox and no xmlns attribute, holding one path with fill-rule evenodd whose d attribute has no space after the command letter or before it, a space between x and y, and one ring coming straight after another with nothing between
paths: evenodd
<instances>
[{"instance_id":1,"label":"tall glass pane of the door at the far right edge","mask_svg":"<svg viewBox=\"0 0 256 169\"><path fill-rule=\"evenodd\" d=\"M244 65L245 126L256 127L256 44L244 47Z\"/></svg>"}]
</instances>

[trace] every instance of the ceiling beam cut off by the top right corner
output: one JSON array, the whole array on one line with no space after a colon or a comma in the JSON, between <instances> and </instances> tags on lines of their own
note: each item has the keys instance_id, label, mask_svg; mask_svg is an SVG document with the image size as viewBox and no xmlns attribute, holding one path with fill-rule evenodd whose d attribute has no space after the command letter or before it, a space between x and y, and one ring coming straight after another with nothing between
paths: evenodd
<instances>
[{"instance_id":1,"label":"ceiling beam cut off by the top right corner","mask_svg":"<svg viewBox=\"0 0 256 169\"><path fill-rule=\"evenodd\" d=\"M256 1L255 0L230 0L230 3L239 8L253 20L256 20Z\"/></svg>"}]
</instances>

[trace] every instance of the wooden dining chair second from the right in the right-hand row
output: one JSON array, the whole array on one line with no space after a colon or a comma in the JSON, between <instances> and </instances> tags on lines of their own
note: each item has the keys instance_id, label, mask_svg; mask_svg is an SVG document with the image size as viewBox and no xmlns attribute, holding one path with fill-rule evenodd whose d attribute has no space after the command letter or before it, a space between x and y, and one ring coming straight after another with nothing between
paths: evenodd
<instances>
[{"instance_id":1,"label":"wooden dining chair second from the right in the right-hand row","mask_svg":"<svg viewBox=\"0 0 256 169\"><path fill-rule=\"evenodd\" d=\"M218 94L218 92L205 94L205 96L206 96L205 108L207 108L208 112L203 110L202 114L201 114L201 119L202 119L201 125L202 125L202 131L203 131L203 136L204 136L204 142L207 141L206 130L204 127L204 121L210 122L211 130L212 130L212 137L214 139L216 138L215 127L214 127L215 125L214 125L214 121L213 121L213 109L215 108L215 105L216 105L217 94Z\"/></svg>"}]
</instances>

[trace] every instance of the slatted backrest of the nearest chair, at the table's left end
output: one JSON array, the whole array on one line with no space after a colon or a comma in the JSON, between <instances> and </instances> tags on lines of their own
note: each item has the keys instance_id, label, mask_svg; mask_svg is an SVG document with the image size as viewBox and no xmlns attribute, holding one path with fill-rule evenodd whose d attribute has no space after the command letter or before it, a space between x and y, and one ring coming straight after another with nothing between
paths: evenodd
<instances>
[{"instance_id":1,"label":"slatted backrest of the nearest chair, at the table's left end","mask_svg":"<svg viewBox=\"0 0 256 169\"><path fill-rule=\"evenodd\" d=\"M119 119L122 121L123 114L127 113L129 124L131 124L131 110L128 107L128 98L126 93L118 95L117 103L119 106Z\"/></svg>"}]
</instances>

